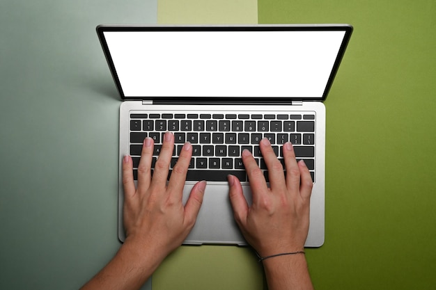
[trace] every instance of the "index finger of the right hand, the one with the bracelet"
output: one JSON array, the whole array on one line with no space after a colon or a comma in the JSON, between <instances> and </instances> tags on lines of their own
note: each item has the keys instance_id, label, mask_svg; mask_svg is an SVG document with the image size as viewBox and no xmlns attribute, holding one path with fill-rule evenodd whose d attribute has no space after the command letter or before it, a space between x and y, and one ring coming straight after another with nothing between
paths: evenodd
<instances>
[{"instance_id":1,"label":"index finger of the right hand, the one with the bracelet","mask_svg":"<svg viewBox=\"0 0 436 290\"><path fill-rule=\"evenodd\" d=\"M242 162L244 163L245 171L250 182L251 193L253 195L253 203L256 204L259 200L260 193L267 193L268 187L265 182L262 170L258 163L254 160L253 155L249 150L242 151Z\"/></svg>"}]
</instances>

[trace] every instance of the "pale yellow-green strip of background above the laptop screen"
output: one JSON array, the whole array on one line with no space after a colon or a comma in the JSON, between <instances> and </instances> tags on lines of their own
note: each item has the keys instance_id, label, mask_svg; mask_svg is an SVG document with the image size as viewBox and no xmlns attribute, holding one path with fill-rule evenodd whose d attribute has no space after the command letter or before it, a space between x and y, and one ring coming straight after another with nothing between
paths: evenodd
<instances>
[{"instance_id":1,"label":"pale yellow-green strip of background above the laptop screen","mask_svg":"<svg viewBox=\"0 0 436 290\"><path fill-rule=\"evenodd\" d=\"M158 24L257 24L257 0L158 0Z\"/></svg>"}]
</instances>

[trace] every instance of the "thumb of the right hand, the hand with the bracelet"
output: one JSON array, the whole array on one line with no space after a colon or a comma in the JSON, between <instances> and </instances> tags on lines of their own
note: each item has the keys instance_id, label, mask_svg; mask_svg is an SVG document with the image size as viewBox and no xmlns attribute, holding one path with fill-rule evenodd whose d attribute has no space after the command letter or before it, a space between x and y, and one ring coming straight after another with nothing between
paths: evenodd
<instances>
[{"instance_id":1,"label":"thumb of the right hand, the hand with the bracelet","mask_svg":"<svg viewBox=\"0 0 436 290\"><path fill-rule=\"evenodd\" d=\"M248 203L247 200L245 200L238 177L228 175L227 179L228 185L230 186L228 196L232 204L233 216L235 216L236 223L241 227L241 225L245 225L245 220L247 220Z\"/></svg>"}]
</instances>

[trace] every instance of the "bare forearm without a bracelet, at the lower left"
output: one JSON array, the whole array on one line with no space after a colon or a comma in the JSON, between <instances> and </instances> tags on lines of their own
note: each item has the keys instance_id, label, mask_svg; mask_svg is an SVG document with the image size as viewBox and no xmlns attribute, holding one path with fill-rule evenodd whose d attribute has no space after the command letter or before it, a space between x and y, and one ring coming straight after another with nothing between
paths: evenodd
<instances>
[{"instance_id":1,"label":"bare forearm without a bracelet, at the lower left","mask_svg":"<svg viewBox=\"0 0 436 290\"><path fill-rule=\"evenodd\" d=\"M162 262L163 257L156 254L126 241L109 264L81 290L139 289Z\"/></svg>"}]
</instances>

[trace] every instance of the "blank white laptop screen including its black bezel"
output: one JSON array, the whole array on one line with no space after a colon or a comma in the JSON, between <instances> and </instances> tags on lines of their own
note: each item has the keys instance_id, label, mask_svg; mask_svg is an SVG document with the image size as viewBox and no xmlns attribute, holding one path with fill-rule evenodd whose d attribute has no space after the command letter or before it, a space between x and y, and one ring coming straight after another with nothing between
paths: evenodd
<instances>
[{"instance_id":1,"label":"blank white laptop screen including its black bezel","mask_svg":"<svg viewBox=\"0 0 436 290\"><path fill-rule=\"evenodd\" d=\"M325 99L350 33L350 26L98 29L125 99Z\"/></svg>"}]
</instances>

